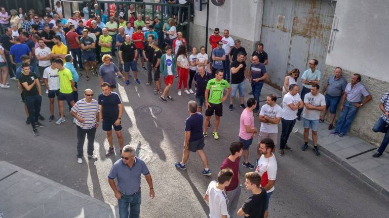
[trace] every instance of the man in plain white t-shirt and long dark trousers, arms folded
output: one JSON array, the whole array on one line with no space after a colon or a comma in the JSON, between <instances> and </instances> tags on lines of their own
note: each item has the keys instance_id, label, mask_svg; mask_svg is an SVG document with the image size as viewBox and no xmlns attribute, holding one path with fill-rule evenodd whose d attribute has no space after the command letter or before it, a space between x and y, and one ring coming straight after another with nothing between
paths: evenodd
<instances>
[{"instance_id":1,"label":"man in plain white t-shirt and long dark trousers, arms folded","mask_svg":"<svg viewBox=\"0 0 389 218\"><path fill-rule=\"evenodd\" d=\"M290 133L293 130L294 124L296 124L298 109L302 108L304 104L298 94L297 84L291 84L289 86L289 92L284 95L282 101L282 132L280 138L280 151L279 154L284 156L284 148L292 150L287 143Z\"/></svg>"}]
</instances>

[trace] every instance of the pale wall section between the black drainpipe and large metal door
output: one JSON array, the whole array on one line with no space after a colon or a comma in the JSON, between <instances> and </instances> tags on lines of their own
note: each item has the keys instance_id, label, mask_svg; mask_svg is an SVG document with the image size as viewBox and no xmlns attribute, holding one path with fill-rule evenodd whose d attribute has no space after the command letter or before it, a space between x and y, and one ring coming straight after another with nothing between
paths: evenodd
<instances>
[{"instance_id":1,"label":"pale wall section between the black drainpipe and large metal door","mask_svg":"<svg viewBox=\"0 0 389 218\"><path fill-rule=\"evenodd\" d=\"M223 35L224 29L229 29L231 35L250 41L259 41L262 10L263 0L228 0L222 6L210 3L209 28L218 27L221 35ZM203 11L195 9L194 23L206 26L207 8ZM213 34L213 32L209 34Z\"/></svg>"}]
</instances>

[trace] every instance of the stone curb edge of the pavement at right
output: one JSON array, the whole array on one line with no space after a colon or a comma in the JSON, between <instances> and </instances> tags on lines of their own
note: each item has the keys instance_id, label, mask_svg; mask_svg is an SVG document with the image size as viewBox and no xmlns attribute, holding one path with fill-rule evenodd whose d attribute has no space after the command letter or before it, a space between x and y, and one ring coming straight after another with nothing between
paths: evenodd
<instances>
[{"instance_id":1,"label":"stone curb edge of the pavement at right","mask_svg":"<svg viewBox=\"0 0 389 218\"><path fill-rule=\"evenodd\" d=\"M300 133L299 131L297 133L295 133L295 135L298 136L299 138L303 138L302 133ZM371 180L370 178L365 176L363 173L359 172L356 168L351 166L348 162L346 162L342 158L336 156L331 151L329 151L327 148L321 146L319 143L318 143L318 146L320 147L322 153L326 154L328 157L333 159L335 162L339 163L340 166L342 166L347 171L351 172L354 176L356 176L358 179L360 179L361 182L365 183L366 185L368 185L369 187L374 189L376 192L381 194L383 197L389 198L389 190L386 190L384 187L377 184L376 182L374 182L373 180Z\"/></svg>"}]
</instances>

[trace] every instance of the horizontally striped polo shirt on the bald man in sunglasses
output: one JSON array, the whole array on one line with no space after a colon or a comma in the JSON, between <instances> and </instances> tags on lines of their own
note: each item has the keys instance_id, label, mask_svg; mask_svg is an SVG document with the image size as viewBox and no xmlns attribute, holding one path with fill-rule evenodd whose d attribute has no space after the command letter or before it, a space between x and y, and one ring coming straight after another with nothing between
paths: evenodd
<instances>
[{"instance_id":1,"label":"horizontally striped polo shirt on the bald man in sunglasses","mask_svg":"<svg viewBox=\"0 0 389 218\"><path fill-rule=\"evenodd\" d=\"M85 98L75 102L74 106L71 108L71 111L76 113L82 119L84 123L81 123L79 120L75 124L82 129L92 129L96 126L96 114L100 112L99 103L97 100L92 99L90 103L85 101Z\"/></svg>"}]
</instances>

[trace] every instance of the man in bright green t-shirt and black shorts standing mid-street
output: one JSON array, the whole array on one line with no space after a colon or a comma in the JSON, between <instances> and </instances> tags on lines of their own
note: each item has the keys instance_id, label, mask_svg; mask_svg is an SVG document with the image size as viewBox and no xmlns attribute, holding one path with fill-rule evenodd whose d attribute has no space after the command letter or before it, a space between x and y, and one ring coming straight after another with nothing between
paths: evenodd
<instances>
[{"instance_id":1,"label":"man in bright green t-shirt and black shorts standing mid-street","mask_svg":"<svg viewBox=\"0 0 389 218\"><path fill-rule=\"evenodd\" d=\"M224 88L228 88L227 93L223 96ZM205 122L203 127L204 137L207 136L207 126L211 120L211 116L215 113L215 125L213 129L214 139L219 139L217 129L220 123L220 117L223 116L223 102L231 92L231 87L228 82L223 79L223 70L217 70L215 78L210 79L205 89Z\"/></svg>"}]
</instances>

